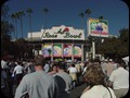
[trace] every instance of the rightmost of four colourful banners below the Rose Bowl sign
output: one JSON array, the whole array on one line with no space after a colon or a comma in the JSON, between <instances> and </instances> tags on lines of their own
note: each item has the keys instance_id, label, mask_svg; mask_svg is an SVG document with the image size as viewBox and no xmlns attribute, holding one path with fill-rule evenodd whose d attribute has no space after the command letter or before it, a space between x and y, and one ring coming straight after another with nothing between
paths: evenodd
<instances>
[{"instance_id":1,"label":"rightmost of four colourful banners below the Rose Bowl sign","mask_svg":"<svg viewBox=\"0 0 130 98\"><path fill-rule=\"evenodd\" d=\"M81 58L81 45L74 45L74 58Z\"/></svg>"}]
</instances>

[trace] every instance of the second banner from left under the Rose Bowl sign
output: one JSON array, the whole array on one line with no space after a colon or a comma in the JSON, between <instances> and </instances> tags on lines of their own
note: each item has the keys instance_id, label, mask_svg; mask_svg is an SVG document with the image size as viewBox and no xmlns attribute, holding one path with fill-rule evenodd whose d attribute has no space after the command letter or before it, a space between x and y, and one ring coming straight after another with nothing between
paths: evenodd
<instances>
[{"instance_id":1,"label":"second banner from left under the Rose Bowl sign","mask_svg":"<svg viewBox=\"0 0 130 98\"><path fill-rule=\"evenodd\" d=\"M55 44L53 46L53 56L54 57L62 57L62 44Z\"/></svg>"}]
</instances>

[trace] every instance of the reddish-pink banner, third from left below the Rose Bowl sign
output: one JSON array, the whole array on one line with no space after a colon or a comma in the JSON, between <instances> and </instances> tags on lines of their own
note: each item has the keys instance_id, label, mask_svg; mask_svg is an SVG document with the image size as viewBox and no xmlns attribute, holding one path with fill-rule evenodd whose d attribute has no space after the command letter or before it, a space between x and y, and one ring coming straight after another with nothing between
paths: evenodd
<instances>
[{"instance_id":1,"label":"reddish-pink banner, third from left below the Rose Bowl sign","mask_svg":"<svg viewBox=\"0 0 130 98\"><path fill-rule=\"evenodd\" d=\"M63 45L63 56L72 57L72 45L68 45L68 44Z\"/></svg>"}]
</instances>

